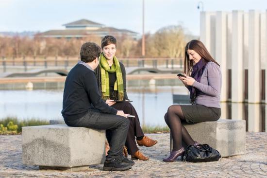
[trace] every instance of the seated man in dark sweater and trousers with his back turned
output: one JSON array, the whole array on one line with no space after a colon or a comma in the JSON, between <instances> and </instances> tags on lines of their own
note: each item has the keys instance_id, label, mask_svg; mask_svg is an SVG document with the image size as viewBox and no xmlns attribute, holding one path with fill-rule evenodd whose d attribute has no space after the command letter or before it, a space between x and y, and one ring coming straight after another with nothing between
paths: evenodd
<instances>
[{"instance_id":1,"label":"seated man in dark sweater and trousers with his back turned","mask_svg":"<svg viewBox=\"0 0 267 178\"><path fill-rule=\"evenodd\" d=\"M134 161L122 154L129 120L123 111L108 106L99 93L94 69L99 65L100 47L92 42L81 47L81 61L66 78L62 115L68 126L105 129L110 150L104 162L104 171L124 171L132 168Z\"/></svg>"}]
</instances>

